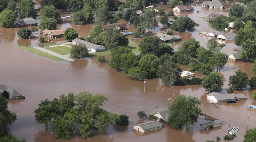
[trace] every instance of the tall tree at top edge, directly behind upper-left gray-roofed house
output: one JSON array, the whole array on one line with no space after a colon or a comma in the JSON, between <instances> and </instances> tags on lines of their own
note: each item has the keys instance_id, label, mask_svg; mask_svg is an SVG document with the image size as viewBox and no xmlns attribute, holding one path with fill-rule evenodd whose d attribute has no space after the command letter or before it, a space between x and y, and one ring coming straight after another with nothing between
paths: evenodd
<instances>
[{"instance_id":1,"label":"tall tree at top edge, directly behind upper-left gray-roofed house","mask_svg":"<svg viewBox=\"0 0 256 142\"><path fill-rule=\"evenodd\" d=\"M35 2L33 2L32 0L21 0L18 6L19 17L21 19L24 19L26 17L33 17L33 19L36 19L37 14L34 9L34 6Z\"/></svg>"}]
</instances>

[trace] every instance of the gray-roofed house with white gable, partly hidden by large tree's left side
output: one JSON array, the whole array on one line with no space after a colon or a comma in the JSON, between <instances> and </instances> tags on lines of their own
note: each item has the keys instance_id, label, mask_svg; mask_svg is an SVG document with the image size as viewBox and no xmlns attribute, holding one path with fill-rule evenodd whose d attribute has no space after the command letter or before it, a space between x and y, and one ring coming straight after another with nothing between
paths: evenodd
<instances>
[{"instance_id":1,"label":"gray-roofed house with white gable, partly hidden by large tree's left side","mask_svg":"<svg viewBox=\"0 0 256 142\"><path fill-rule=\"evenodd\" d=\"M169 109L168 110L166 110L166 109L155 109L155 110L152 110L149 113L149 117L153 118L153 119L157 119L161 122L168 123L169 114L170 114Z\"/></svg>"}]
</instances>

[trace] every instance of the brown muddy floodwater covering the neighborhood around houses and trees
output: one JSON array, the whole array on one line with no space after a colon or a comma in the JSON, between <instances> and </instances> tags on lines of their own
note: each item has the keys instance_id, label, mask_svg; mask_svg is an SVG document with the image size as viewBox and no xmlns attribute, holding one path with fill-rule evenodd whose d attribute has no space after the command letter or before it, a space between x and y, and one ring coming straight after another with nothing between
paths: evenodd
<instances>
[{"instance_id":1,"label":"brown muddy floodwater covering the neighborhood around houses and trees","mask_svg":"<svg viewBox=\"0 0 256 142\"><path fill-rule=\"evenodd\" d=\"M200 41L202 46L206 46L207 37L199 35L199 29L203 27L209 27L207 22L203 21L200 16L207 16L212 11L200 9L200 6L193 6L198 11L188 14L197 23L199 27L195 27L195 30L188 33L174 33L181 36L182 39L188 40L194 36L196 40ZM216 13L223 13L227 11L214 11ZM88 25L72 25L70 23L60 23L58 29L66 29L72 27L76 29L79 36L86 37L94 24ZM166 29L160 28L154 30L154 34L157 32L165 33ZM129 27L132 31L135 29L132 26ZM146 92L144 93L144 83L142 81L135 81L126 77L123 73L113 71L107 64L98 64L96 59L82 60L81 68L79 68L79 62L68 63L67 71L66 62L53 61L48 58L40 57L32 54L29 51L23 50L19 45L36 46L38 41L36 39L20 39L16 32L19 28L10 28L10 42L8 41L8 29L0 28L1 31L1 43L0 43L0 83L5 84L8 87L14 88L21 94L23 94L25 100L9 101L8 107L12 112L16 112L17 120L12 126L9 126L9 134L18 137L19 139L25 138L28 142L63 142L65 140L55 139L50 130L45 130L44 125L39 125L34 118L34 110L41 100L58 97L61 94L67 94L74 92L77 94L80 91L88 91L92 94L103 94L109 98L109 101L104 105L104 108L110 112L118 114L126 114L129 116L129 126L109 126L104 135L94 134L87 139L82 139L79 135L75 135L70 142L77 141L93 141L93 142L131 142L131 141L171 141L171 142L204 142L206 140L216 140L217 136L223 139L223 136L227 134L228 126L226 123L231 121L231 128L238 126L240 131L236 133L237 137L234 142L243 141L243 135L246 129L246 115L250 114L248 128L255 128L256 110L248 110L247 105L256 105L253 101L251 94L253 91L244 91L248 100L238 101L234 104L220 103L219 105L211 105L206 100L206 92L201 85L189 85L189 86L172 86L163 87L161 80L154 78L146 81ZM230 31L235 32L235 31ZM37 33L38 34L38 33ZM141 38L131 40L138 43ZM64 42L63 38L55 39L54 42L48 42L46 44L61 43ZM227 44L231 48L239 48L234 45L234 41L230 41ZM175 44L174 48L181 43ZM109 57L107 57L109 59ZM12 66L15 65L15 66ZM221 74L224 76L224 88L228 87L228 77L233 75L238 69L246 71L248 76L253 75L251 69L252 63L245 62L231 62L225 65L221 70ZM184 70L188 70L187 67L182 66ZM200 75L196 72L197 75ZM162 88L165 88L162 91ZM225 90L223 91L225 92ZM236 92L235 92L236 93ZM175 95L174 95L175 94ZM191 95L199 98L202 101L202 112L206 115L220 119L226 123L223 123L221 128L216 128L207 131L199 131L199 123L203 123L204 120L199 121L193 127L192 131L188 130L173 130L168 125L165 125L162 130L150 132L147 134L137 134L133 131L133 125L149 121L148 117L144 120L140 120L137 116L137 112L140 110L145 111L147 114L158 108L167 108L168 104L172 103L172 100L167 98L173 98L179 94ZM223 141L223 140L222 140Z\"/></svg>"}]
</instances>

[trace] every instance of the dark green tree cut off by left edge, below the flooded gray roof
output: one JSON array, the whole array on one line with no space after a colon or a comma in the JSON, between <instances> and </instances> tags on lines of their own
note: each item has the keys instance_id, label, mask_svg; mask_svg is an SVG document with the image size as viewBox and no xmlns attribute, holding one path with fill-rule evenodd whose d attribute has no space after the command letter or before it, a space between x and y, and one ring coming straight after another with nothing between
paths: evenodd
<instances>
[{"instance_id":1,"label":"dark green tree cut off by left edge, below the flooded gray roof","mask_svg":"<svg viewBox=\"0 0 256 142\"><path fill-rule=\"evenodd\" d=\"M8 125L16 120L16 114L8 110L8 101L2 95L0 95L0 137L7 135Z\"/></svg>"}]
</instances>

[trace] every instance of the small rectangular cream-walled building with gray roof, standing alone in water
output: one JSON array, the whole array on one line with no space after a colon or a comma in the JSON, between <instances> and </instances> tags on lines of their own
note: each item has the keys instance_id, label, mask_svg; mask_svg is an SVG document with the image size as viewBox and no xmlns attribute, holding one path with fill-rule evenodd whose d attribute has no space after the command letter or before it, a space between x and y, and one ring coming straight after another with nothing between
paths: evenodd
<instances>
[{"instance_id":1,"label":"small rectangular cream-walled building with gray roof, standing alone in water","mask_svg":"<svg viewBox=\"0 0 256 142\"><path fill-rule=\"evenodd\" d=\"M159 121L149 121L145 123L141 123L138 125L134 125L134 130L140 131L142 133L159 130L162 129L163 125Z\"/></svg>"}]
</instances>

